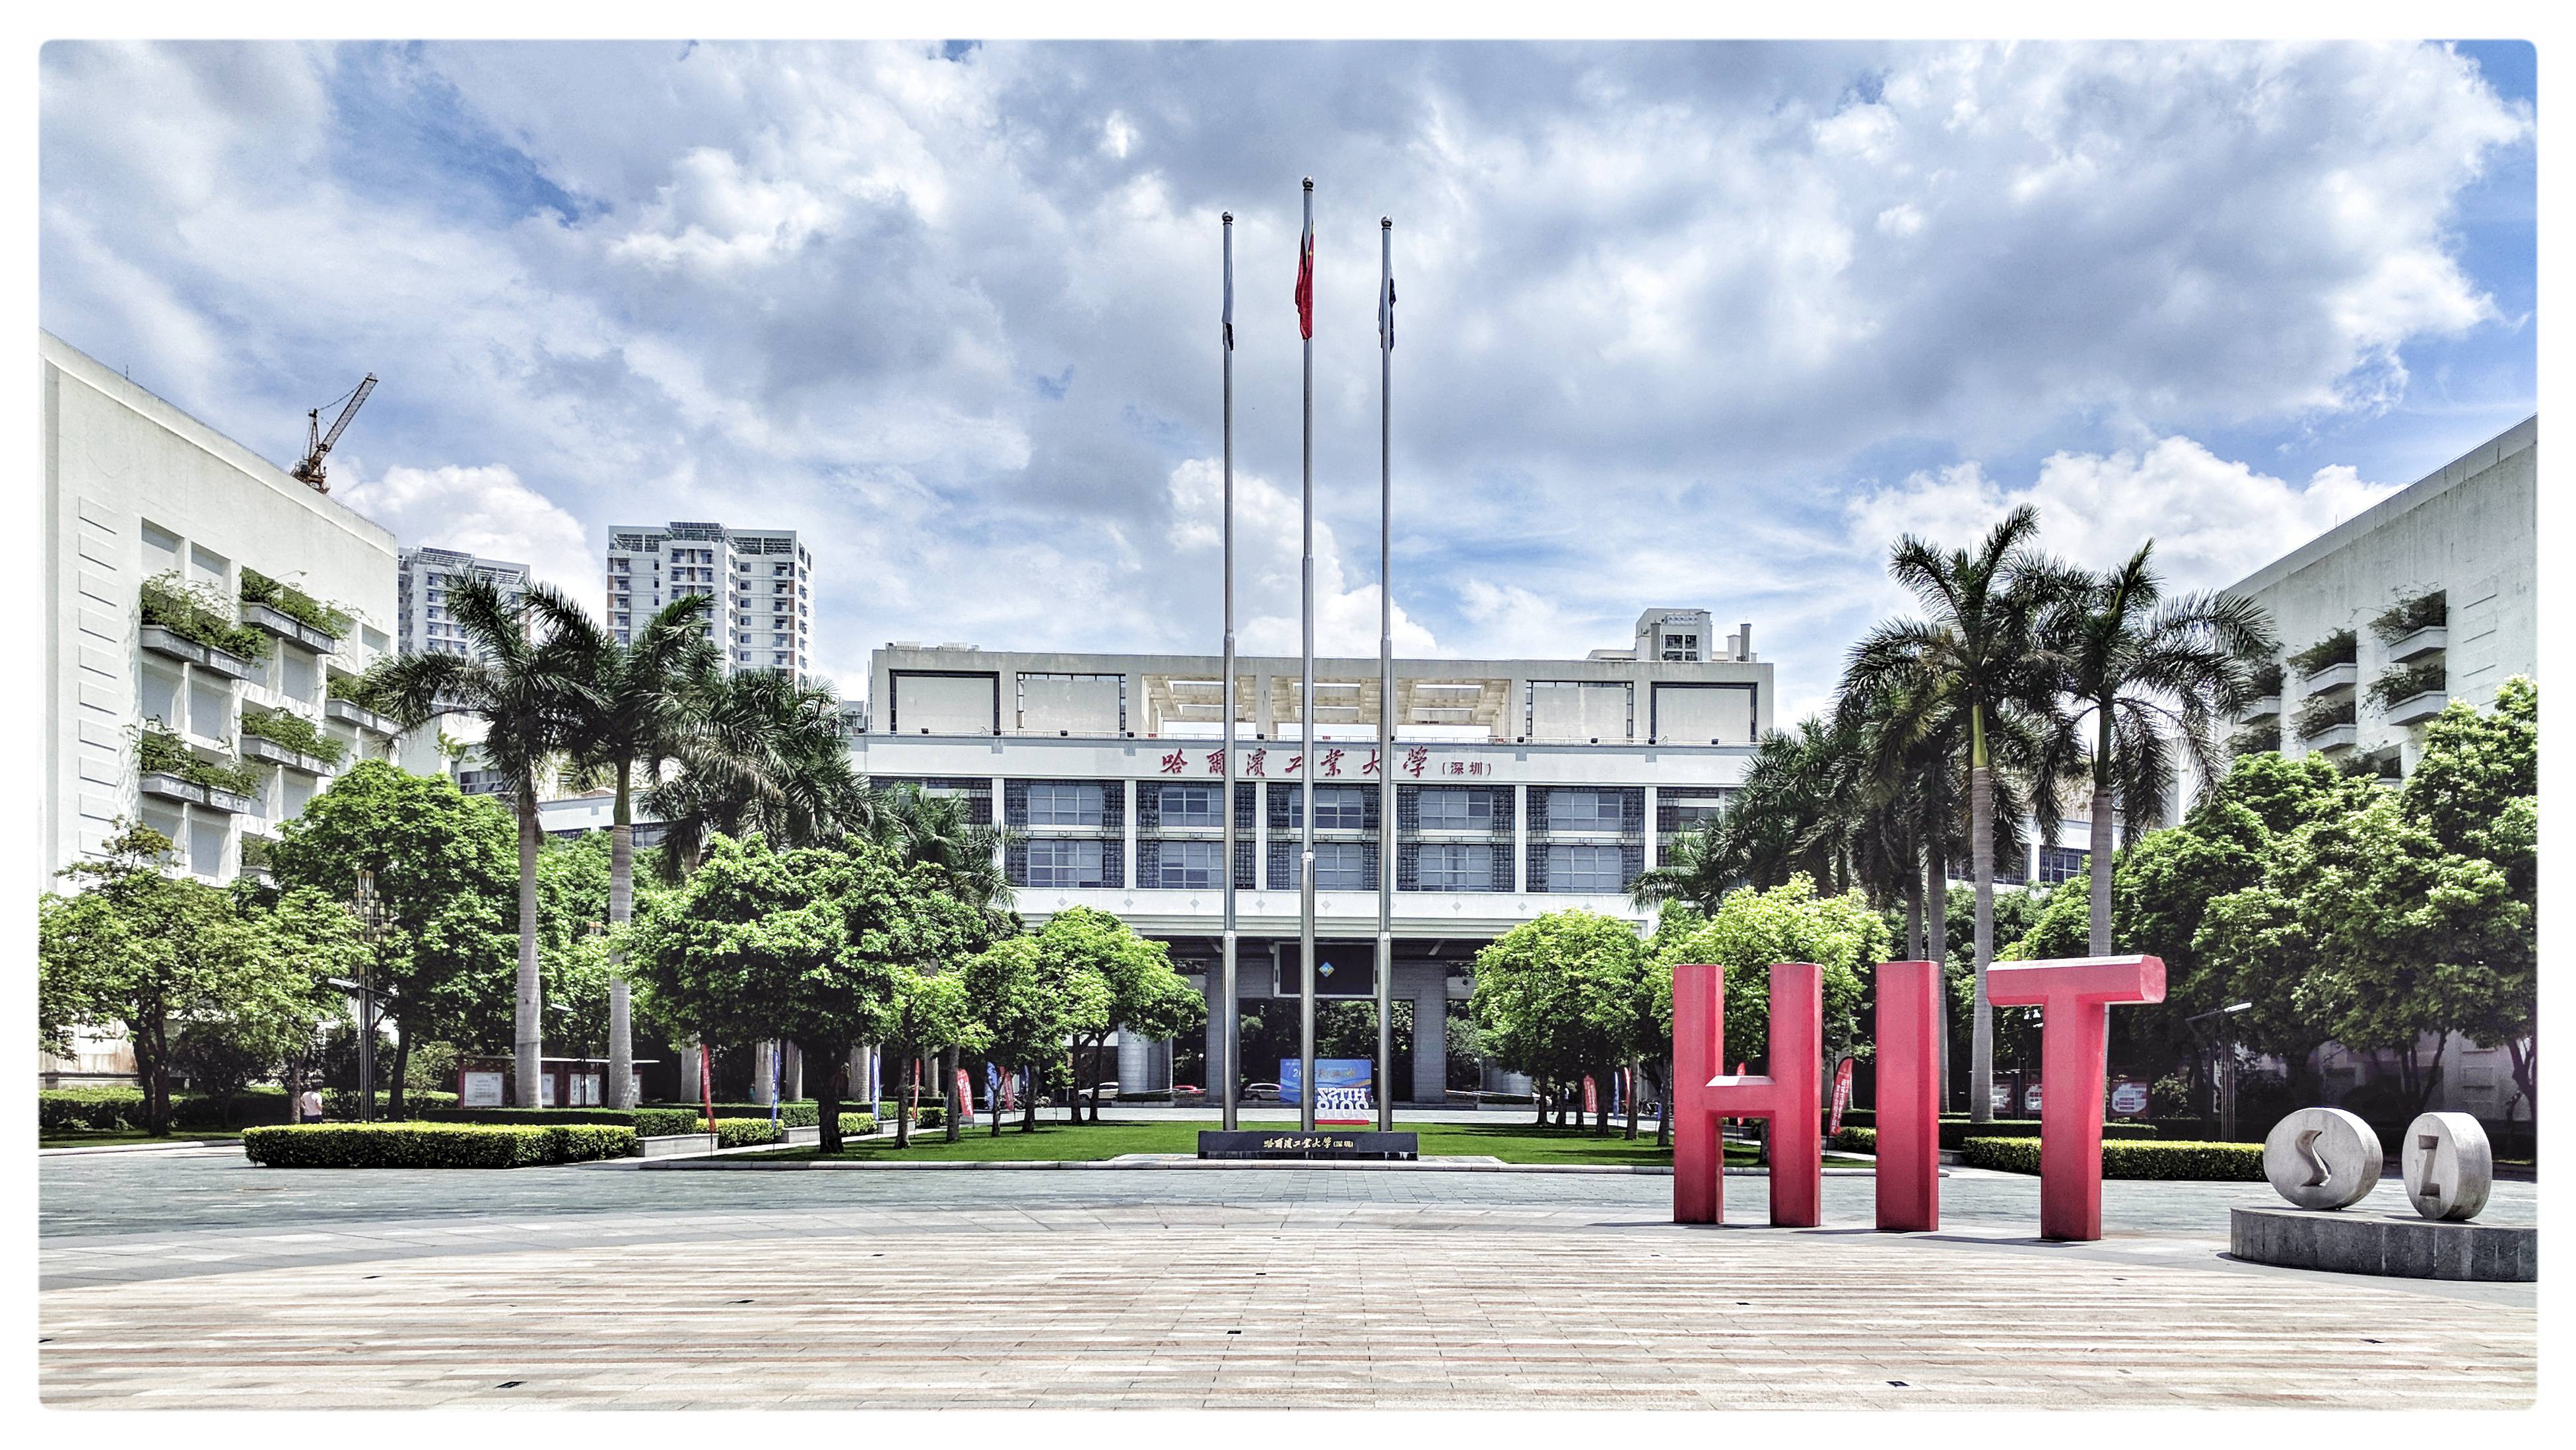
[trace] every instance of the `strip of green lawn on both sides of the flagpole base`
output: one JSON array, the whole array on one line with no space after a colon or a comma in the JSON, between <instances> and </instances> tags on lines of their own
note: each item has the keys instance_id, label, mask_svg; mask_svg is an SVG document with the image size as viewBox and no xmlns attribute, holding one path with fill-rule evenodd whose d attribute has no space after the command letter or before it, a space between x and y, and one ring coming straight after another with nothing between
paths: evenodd
<instances>
[{"instance_id":1,"label":"strip of green lawn on both sides of the flagpole base","mask_svg":"<svg viewBox=\"0 0 2576 1450\"><path fill-rule=\"evenodd\" d=\"M1265 1128L1249 1123L1247 1128ZM1023 1133L1007 1123L994 1138L984 1123L966 1128L963 1138L948 1144L940 1128L914 1136L912 1149L896 1151L894 1138L855 1138L842 1149L842 1159L922 1159L922 1162L1097 1162L1121 1154L1195 1154L1198 1133L1213 1123L1041 1123L1036 1133ZM1291 1125L1280 1125L1291 1128ZM1425 1156L1494 1156L1507 1164L1638 1164L1672 1167L1672 1149L1654 1146L1654 1131L1641 1131L1631 1144L1620 1131L1595 1136L1589 1128L1540 1128L1535 1123L1422 1123L1404 1128L1422 1136ZM817 1149L783 1149L757 1154L765 1159L811 1159ZM1728 1164L1752 1164L1752 1149L1728 1149ZM1832 1164L1862 1162L1839 1154Z\"/></svg>"}]
</instances>

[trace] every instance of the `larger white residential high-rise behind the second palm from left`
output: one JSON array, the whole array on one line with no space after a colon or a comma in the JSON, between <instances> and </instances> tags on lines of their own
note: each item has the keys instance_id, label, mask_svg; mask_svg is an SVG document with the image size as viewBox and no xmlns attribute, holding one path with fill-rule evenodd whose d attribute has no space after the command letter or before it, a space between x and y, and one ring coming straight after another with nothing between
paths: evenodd
<instances>
[{"instance_id":1,"label":"larger white residential high-rise behind the second palm from left","mask_svg":"<svg viewBox=\"0 0 2576 1450\"><path fill-rule=\"evenodd\" d=\"M793 528L665 523L608 528L608 628L634 639L662 605L706 595L726 672L814 670L814 556Z\"/></svg>"}]
</instances>

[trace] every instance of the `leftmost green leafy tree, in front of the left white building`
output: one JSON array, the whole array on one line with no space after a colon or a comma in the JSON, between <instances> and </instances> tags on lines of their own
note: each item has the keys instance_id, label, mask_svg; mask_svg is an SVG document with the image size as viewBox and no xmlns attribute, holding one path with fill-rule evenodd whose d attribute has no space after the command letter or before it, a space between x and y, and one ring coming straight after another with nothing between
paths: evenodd
<instances>
[{"instance_id":1,"label":"leftmost green leafy tree, in front of the left white building","mask_svg":"<svg viewBox=\"0 0 2576 1450\"><path fill-rule=\"evenodd\" d=\"M64 871L82 891L36 904L39 999L54 1015L39 1033L121 1030L155 1136L170 1133L175 1033L232 1022L276 1040L281 1025L309 1022L317 968L332 966L234 896L170 876L167 858L170 837L126 827L103 860Z\"/></svg>"}]
</instances>

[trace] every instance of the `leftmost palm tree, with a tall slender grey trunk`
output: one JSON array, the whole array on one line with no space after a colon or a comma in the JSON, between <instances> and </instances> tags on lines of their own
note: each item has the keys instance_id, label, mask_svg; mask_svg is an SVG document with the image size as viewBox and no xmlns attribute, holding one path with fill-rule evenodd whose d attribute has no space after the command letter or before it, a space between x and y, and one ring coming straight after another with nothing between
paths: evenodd
<instances>
[{"instance_id":1,"label":"leftmost palm tree, with a tall slender grey trunk","mask_svg":"<svg viewBox=\"0 0 2576 1450\"><path fill-rule=\"evenodd\" d=\"M482 755L510 783L518 811L518 1105L538 1105L544 1012L536 974L536 858L546 834L536 822L536 778L577 742L585 719L590 616L551 585L507 598L489 579L448 590L448 616L471 654L402 654L379 659L363 693L404 729L438 716L484 724Z\"/></svg>"}]
</instances>

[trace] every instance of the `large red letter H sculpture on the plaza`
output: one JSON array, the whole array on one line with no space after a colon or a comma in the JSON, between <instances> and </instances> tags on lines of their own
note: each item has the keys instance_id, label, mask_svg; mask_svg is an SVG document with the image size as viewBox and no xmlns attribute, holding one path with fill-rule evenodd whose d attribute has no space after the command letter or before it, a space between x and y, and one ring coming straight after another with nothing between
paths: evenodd
<instances>
[{"instance_id":1,"label":"large red letter H sculpture on the plaza","mask_svg":"<svg viewBox=\"0 0 2576 1450\"><path fill-rule=\"evenodd\" d=\"M1672 968L1674 1223L1726 1223L1721 1118L1770 1118L1772 1226L1821 1223L1824 968L1806 961L1772 966L1765 1056L1772 1077L1718 1077L1726 1064L1726 968Z\"/></svg>"}]
</instances>

